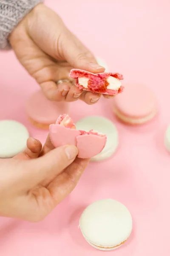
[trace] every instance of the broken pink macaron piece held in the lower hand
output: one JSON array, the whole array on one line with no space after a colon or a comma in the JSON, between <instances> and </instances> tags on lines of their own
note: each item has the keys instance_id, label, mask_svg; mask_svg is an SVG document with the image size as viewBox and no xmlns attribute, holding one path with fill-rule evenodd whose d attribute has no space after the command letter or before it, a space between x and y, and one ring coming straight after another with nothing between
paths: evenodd
<instances>
[{"instance_id":1,"label":"broken pink macaron piece held in the lower hand","mask_svg":"<svg viewBox=\"0 0 170 256\"><path fill-rule=\"evenodd\" d=\"M50 125L49 134L55 148L75 145L79 158L91 158L99 154L106 145L107 137L97 131L76 130L73 120L66 114L60 115L55 124Z\"/></svg>"}]
</instances>

